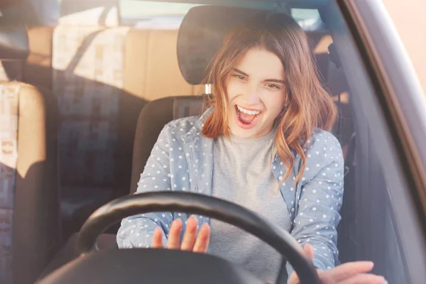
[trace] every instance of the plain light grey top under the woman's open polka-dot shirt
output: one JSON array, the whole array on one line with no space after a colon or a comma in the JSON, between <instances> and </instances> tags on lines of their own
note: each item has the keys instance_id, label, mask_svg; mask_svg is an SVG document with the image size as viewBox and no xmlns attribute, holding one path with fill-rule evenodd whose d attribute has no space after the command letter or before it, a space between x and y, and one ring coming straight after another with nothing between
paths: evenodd
<instances>
[{"instance_id":1,"label":"plain light grey top under the woman's open polka-dot shirt","mask_svg":"<svg viewBox=\"0 0 426 284\"><path fill-rule=\"evenodd\" d=\"M251 209L290 232L290 214L271 168L275 133L276 129L259 138L214 139L212 195ZM281 261L275 249L216 219L210 225L209 253L239 264L263 282L274 282Z\"/></svg>"}]
</instances>

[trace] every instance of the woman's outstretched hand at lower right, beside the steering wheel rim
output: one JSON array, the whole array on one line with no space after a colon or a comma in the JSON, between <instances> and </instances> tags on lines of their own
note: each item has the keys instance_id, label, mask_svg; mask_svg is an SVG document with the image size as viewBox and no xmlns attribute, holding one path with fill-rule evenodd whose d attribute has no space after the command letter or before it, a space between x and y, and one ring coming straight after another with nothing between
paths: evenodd
<instances>
[{"instance_id":1,"label":"woman's outstretched hand at lower right, beside the steering wheel rim","mask_svg":"<svg viewBox=\"0 0 426 284\"><path fill-rule=\"evenodd\" d=\"M307 244L303 248L311 259L314 258L312 246ZM328 271L317 270L322 284L387 284L383 276L368 273L373 269L371 261L354 261L336 266ZM288 284L299 284L295 271L288 280Z\"/></svg>"}]
</instances>

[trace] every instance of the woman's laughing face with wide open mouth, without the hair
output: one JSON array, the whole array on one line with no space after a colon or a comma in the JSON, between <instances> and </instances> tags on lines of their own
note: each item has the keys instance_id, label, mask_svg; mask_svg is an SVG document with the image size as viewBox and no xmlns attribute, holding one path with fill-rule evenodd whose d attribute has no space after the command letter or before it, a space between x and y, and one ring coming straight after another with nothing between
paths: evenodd
<instances>
[{"instance_id":1,"label":"woman's laughing face with wide open mouth, without the hair","mask_svg":"<svg viewBox=\"0 0 426 284\"><path fill-rule=\"evenodd\" d=\"M239 138L264 136L273 128L285 102L285 73L280 59L252 48L236 60L226 92L229 129Z\"/></svg>"}]
</instances>

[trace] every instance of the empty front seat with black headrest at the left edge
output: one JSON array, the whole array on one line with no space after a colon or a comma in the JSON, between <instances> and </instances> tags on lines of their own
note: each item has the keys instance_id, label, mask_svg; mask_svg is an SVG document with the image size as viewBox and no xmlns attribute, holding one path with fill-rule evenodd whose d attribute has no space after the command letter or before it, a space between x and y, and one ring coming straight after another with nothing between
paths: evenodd
<instances>
[{"instance_id":1,"label":"empty front seat with black headrest at the left edge","mask_svg":"<svg viewBox=\"0 0 426 284\"><path fill-rule=\"evenodd\" d=\"M0 83L0 283L34 283L62 242L52 97L10 80L27 56L26 28L3 26L0 60L13 78Z\"/></svg>"}]
</instances>

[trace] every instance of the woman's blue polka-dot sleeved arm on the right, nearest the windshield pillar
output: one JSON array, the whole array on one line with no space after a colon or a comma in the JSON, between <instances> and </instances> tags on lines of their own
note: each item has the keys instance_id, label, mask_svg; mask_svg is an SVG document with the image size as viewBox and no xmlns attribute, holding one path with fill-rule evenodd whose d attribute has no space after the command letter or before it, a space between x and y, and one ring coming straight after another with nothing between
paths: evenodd
<instances>
[{"instance_id":1,"label":"woman's blue polka-dot sleeved arm on the right, nearest the windshield pillar","mask_svg":"<svg viewBox=\"0 0 426 284\"><path fill-rule=\"evenodd\" d=\"M307 168L300 187L298 209L291 234L301 246L310 244L312 262L320 270L334 268L338 262L337 224L341 219L344 160L342 147L331 133L317 137L307 153ZM288 275L293 268L288 264Z\"/></svg>"}]
</instances>

